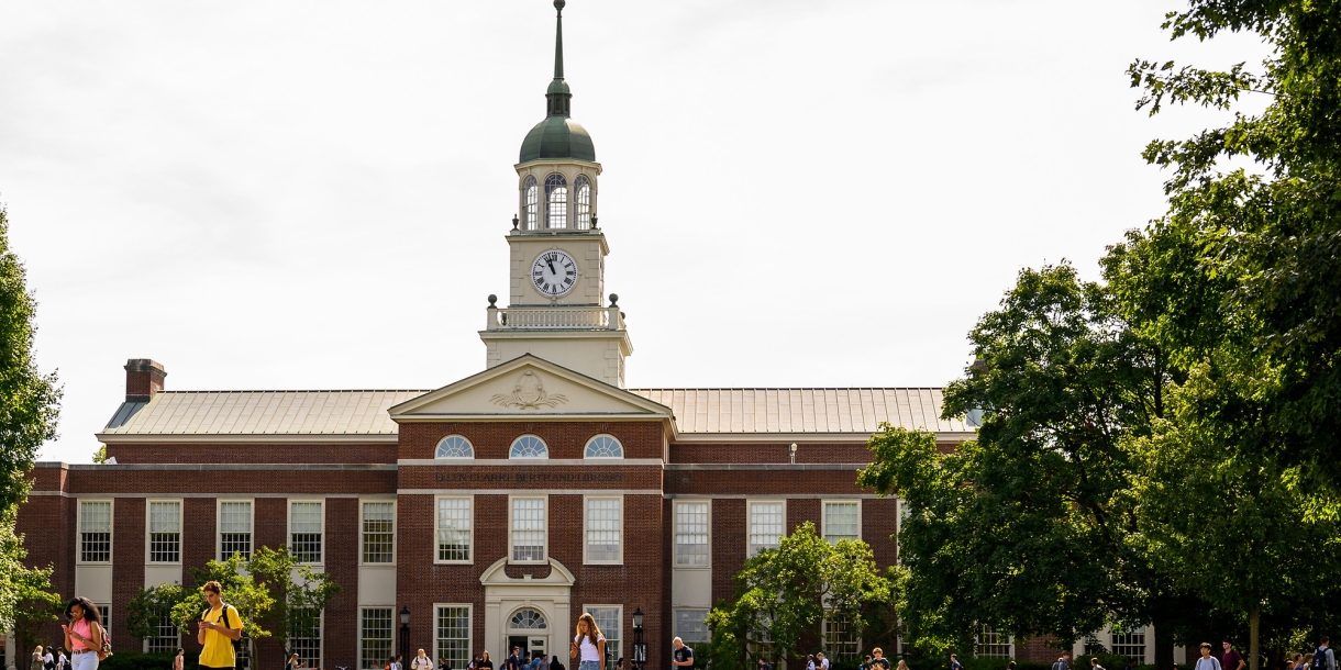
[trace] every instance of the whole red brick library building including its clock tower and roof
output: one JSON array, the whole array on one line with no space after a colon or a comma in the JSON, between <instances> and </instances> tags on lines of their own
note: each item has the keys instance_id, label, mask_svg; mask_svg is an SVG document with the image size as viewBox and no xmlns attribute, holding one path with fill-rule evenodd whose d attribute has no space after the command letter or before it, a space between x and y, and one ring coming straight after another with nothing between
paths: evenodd
<instances>
[{"instance_id":1,"label":"whole red brick library building including its clock tower and roof","mask_svg":"<svg viewBox=\"0 0 1341 670\"><path fill-rule=\"evenodd\" d=\"M972 427L940 418L937 389L625 389L601 165L570 118L558 35L547 115L516 163L510 302L491 296L484 371L436 390L173 391L161 364L133 359L97 436L115 464L38 465L19 517L30 560L103 607L121 649L141 588L261 545L343 587L294 645L355 669L382 667L408 610L410 649L456 669L511 646L563 654L583 611L611 657L632 655L641 611L660 670L672 636L707 638L744 559L805 521L894 561L898 503L854 485L866 438L884 421L945 445ZM165 623L143 645L193 638Z\"/></svg>"}]
</instances>

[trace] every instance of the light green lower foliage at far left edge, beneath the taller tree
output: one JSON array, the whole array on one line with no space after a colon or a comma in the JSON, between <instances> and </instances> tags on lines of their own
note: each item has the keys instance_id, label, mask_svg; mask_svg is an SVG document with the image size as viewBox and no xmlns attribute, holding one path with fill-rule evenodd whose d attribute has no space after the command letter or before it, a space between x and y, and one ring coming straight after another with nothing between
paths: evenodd
<instances>
[{"instance_id":1,"label":"light green lower foliage at far left edge, beneath the taller tree","mask_svg":"<svg viewBox=\"0 0 1341 670\"><path fill-rule=\"evenodd\" d=\"M64 603L51 586L51 567L24 565L27 551L23 536L13 532L15 512L0 513L0 631L12 631L19 649L31 650Z\"/></svg>"}]
</instances>

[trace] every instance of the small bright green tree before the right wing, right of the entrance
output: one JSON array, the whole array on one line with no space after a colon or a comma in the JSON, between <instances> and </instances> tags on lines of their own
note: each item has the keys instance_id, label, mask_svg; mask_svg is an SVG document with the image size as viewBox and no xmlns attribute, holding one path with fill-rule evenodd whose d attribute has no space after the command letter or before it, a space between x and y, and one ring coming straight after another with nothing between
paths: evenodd
<instances>
[{"instance_id":1,"label":"small bright green tree before the right wing, right of the entrance","mask_svg":"<svg viewBox=\"0 0 1341 670\"><path fill-rule=\"evenodd\" d=\"M850 639L880 641L893 630L893 584L878 574L870 545L830 544L807 521L776 549L746 560L732 600L708 612L707 655L717 670L740 670L756 658L776 666L825 619L839 622Z\"/></svg>"}]
</instances>

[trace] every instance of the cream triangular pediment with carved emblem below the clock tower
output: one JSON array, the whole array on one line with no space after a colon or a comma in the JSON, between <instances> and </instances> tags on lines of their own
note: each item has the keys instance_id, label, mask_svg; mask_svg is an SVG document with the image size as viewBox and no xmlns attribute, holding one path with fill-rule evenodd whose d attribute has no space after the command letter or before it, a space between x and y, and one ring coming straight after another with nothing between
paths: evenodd
<instances>
[{"instance_id":1,"label":"cream triangular pediment with carved emblem below the clock tower","mask_svg":"<svg viewBox=\"0 0 1341 670\"><path fill-rule=\"evenodd\" d=\"M670 418L670 407L531 354L389 409L393 421L496 417Z\"/></svg>"}]
</instances>

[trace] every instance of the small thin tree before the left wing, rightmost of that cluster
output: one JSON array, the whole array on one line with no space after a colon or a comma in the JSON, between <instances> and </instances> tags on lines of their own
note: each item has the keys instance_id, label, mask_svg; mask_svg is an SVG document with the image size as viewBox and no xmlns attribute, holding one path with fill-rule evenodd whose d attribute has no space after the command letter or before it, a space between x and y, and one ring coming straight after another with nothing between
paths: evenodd
<instances>
[{"instance_id":1,"label":"small thin tree before the left wing, rightmost of that cluster","mask_svg":"<svg viewBox=\"0 0 1341 670\"><path fill-rule=\"evenodd\" d=\"M299 564L283 545L278 549L261 547L247 561L247 570L275 596L267 624L271 635L290 653L290 638L320 626L322 610L341 592L339 584L330 575Z\"/></svg>"}]
</instances>

